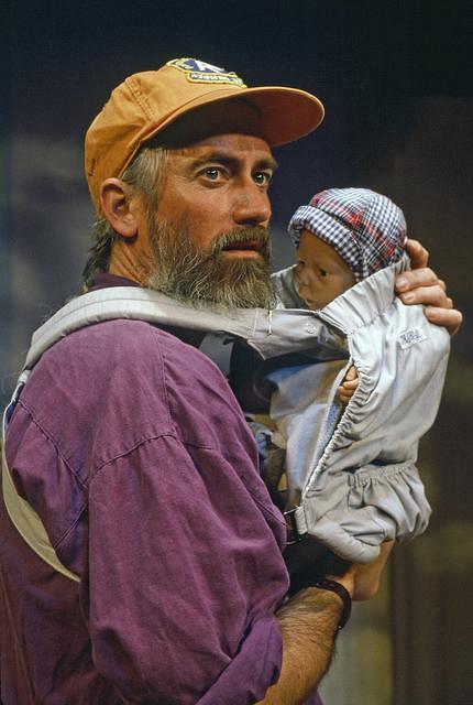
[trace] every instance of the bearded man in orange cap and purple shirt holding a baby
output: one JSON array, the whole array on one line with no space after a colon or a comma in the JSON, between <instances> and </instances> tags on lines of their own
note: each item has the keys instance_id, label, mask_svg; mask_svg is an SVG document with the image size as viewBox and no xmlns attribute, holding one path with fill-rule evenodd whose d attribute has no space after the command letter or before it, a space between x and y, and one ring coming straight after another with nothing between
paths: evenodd
<instances>
[{"instance_id":1,"label":"bearded man in orange cap and purple shirt holding a baby","mask_svg":"<svg viewBox=\"0 0 473 705\"><path fill-rule=\"evenodd\" d=\"M86 139L89 288L151 288L196 318L270 306L271 147L322 115L304 91L246 89L196 59L128 78ZM460 314L411 254L403 295L453 330ZM284 604L284 521L200 337L101 322L47 349L22 389L6 465L69 575L1 506L3 705L319 702L350 597L374 594L389 546Z\"/></svg>"}]
</instances>

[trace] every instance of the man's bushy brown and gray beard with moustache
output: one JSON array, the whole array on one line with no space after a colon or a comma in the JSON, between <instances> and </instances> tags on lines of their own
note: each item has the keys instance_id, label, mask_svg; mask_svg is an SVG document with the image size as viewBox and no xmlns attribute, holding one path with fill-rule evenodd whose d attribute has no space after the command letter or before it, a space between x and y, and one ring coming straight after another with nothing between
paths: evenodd
<instances>
[{"instance_id":1,"label":"man's bushy brown and gray beard with moustache","mask_svg":"<svg viewBox=\"0 0 473 705\"><path fill-rule=\"evenodd\" d=\"M185 303L226 308L271 308L275 303L270 279L270 232L262 227L228 230L212 242L210 252L198 250L185 225L174 228L151 219L150 240L155 259L147 285ZM226 257L234 242L261 242L257 258Z\"/></svg>"}]
</instances>

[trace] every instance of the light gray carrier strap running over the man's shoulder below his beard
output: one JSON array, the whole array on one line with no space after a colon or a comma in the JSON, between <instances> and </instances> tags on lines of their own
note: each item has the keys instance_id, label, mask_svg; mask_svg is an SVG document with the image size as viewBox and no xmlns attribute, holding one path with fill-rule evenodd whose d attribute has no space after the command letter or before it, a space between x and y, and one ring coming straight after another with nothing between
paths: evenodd
<instances>
[{"instance_id":1,"label":"light gray carrier strap running over the man's shoulder below his beard","mask_svg":"<svg viewBox=\"0 0 473 705\"><path fill-rule=\"evenodd\" d=\"M62 337L114 318L226 333L246 340L263 359L288 351L311 350L318 341L324 349L344 349L341 337L312 311L193 306L150 289L113 286L73 299L37 328L24 368L32 369L43 352Z\"/></svg>"}]
</instances>

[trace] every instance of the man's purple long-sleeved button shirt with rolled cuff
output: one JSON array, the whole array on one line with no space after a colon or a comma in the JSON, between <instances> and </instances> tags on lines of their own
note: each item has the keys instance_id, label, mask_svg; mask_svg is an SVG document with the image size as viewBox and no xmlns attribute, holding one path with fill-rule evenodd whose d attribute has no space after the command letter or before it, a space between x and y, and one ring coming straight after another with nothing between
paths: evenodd
<instances>
[{"instance_id":1,"label":"man's purple long-sleeved button shirt with rolled cuff","mask_svg":"<svg viewBox=\"0 0 473 705\"><path fill-rule=\"evenodd\" d=\"M81 582L38 558L0 502L3 705L264 697L285 527L208 358L139 321L82 328L33 370L7 457Z\"/></svg>"}]
</instances>

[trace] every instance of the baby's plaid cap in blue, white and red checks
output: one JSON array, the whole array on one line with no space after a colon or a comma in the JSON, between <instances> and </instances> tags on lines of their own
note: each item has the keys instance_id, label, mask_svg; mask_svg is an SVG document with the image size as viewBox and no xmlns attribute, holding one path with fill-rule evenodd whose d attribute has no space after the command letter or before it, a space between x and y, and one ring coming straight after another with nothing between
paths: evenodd
<instances>
[{"instance_id":1,"label":"baby's plaid cap in blue, white and red checks","mask_svg":"<svg viewBox=\"0 0 473 705\"><path fill-rule=\"evenodd\" d=\"M296 247L304 229L333 247L356 281L397 262L406 242L400 208L367 188L329 188L316 194L290 219L288 231Z\"/></svg>"}]
</instances>

